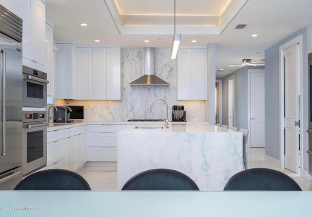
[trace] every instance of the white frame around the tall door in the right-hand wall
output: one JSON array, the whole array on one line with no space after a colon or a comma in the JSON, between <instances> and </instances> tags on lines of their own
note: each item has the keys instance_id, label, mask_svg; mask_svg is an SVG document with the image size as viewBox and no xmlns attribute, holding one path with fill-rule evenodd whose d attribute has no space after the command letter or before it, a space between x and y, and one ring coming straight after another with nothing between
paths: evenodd
<instances>
[{"instance_id":1,"label":"white frame around the tall door in the right-hand wall","mask_svg":"<svg viewBox=\"0 0 312 217\"><path fill-rule=\"evenodd\" d=\"M279 110L280 110L280 116L279 116L279 154L280 154L280 166L281 168L285 168L285 157L284 157L284 152L285 152L285 133L284 133L284 50L287 48L290 48L296 44L299 44L298 46L298 53L299 53L299 83L300 83L300 88L299 88L299 95L302 96L302 35L297 36L293 38L292 40L284 43L283 45L279 46ZM303 120L303 102L302 100L299 101L299 119ZM302 127L301 127L302 129ZM301 130L302 133L302 130ZM302 156L303 156L303 151L302 151L302 145L303 145L303 137L302 135L300 136L300 159L299 159L299 174L300 170L302 169L303 166L303 161L302 161Z\"/></svg>"}]
</instances>

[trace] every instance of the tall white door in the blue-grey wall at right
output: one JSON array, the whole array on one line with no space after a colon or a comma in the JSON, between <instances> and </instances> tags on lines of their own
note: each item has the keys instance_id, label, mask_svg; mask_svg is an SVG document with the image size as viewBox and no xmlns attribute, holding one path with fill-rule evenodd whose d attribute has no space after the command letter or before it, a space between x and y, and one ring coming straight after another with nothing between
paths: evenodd
<instances>
[{"instance_id":1,"label":"tall white door in the blue-grey wall at right","mask_svg":"<svg viewBox=\"0 0 312 217\"><path fill-rule=\"evenodd\" d=\"M299 49L284 50L285 168L299 172Z\"/></svg>"}]
</instances>

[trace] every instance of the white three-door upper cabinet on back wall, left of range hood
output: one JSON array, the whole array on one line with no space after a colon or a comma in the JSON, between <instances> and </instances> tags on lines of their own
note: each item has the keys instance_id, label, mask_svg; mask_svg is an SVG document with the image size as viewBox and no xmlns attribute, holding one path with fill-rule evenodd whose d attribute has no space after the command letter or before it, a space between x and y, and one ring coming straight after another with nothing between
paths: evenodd
<instances>
[{"instance_id":1,"label":"white three-door upper cabinet on back wall, left of range hood","mask_svg":"<svg viewBox=\"0 0 312 217\"><path fill-rule=\"evenodd\" d=\"M120 48L78 48L77 97L120 100Z\"/></svg>"}]
</instances>

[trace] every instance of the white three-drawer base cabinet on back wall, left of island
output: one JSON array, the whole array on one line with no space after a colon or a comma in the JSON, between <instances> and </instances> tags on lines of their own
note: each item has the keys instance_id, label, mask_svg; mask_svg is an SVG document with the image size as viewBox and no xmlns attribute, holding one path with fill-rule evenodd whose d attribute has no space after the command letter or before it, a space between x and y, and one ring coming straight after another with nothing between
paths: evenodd
<instances>
[{"instance_id":1,"label":"white three-drawer base cabinet on back wall, left of island","mask_svg":"<svg viewBox=\"0 0 312 217\"><path fill-rule=\"evenodd\" d=\"M117 162L117 132L126 125L90 125L89 161Z\"/></svg>"}]
</instances>

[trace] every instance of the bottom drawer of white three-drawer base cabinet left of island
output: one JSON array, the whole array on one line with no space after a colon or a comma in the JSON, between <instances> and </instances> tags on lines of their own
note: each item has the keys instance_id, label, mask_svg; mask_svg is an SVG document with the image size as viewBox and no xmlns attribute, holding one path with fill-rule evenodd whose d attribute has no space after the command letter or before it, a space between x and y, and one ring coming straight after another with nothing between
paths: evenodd
<instances>
[{"instance_id":1,"label":"bottom drawer of white three-drawer base cabinet left of island","mask_svg":"<svg viewBox=\"0 0 312 217\"><path fill-rule=\"evenodd\" d=\"M89 161L117 161L117 147L89 147Z\"/></svg>"}]
</instances>

